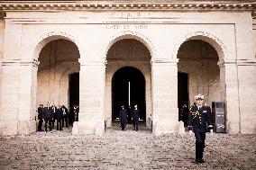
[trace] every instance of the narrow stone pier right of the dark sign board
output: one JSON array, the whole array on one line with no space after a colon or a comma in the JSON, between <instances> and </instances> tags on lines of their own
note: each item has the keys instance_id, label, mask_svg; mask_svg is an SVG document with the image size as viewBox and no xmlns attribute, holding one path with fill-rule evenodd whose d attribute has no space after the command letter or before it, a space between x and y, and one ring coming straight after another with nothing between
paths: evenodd
<instances>
[{"instance_id":1,"label":"narrow stone pier right of the dark sign board","mask_svg":"<svg viewBox=\"0 0 256 170\"><path fill-rule=\"evenodd\" d=\"M218 62L220 67L220 85L222 101L225 103L226 130L239 133L241 130L240 103L238 95L237 65L235 61Z\"/></svg>"}]
</instances>

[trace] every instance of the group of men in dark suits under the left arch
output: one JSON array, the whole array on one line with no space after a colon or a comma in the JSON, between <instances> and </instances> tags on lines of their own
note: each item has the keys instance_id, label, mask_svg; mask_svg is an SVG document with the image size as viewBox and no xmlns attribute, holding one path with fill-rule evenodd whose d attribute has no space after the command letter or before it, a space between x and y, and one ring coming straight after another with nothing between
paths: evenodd
<instances>
[{"instance_id":1,"label":"group of men in dark suits under the left arch","mask_svg":"<svg viewBox=\"0 0 256 170\"><path fill-rule=\"evenodd\" d=\"M45 131L47 131L48 127L51 131L54 129L55 121L57 121L57 130L63 130L64 121L66 127L68 128L69 125L72 126L74 121L78 121L78 105L74 105L74 107L70 108L70 112L68 111L67 107L64 105L58 107L53 104L50 106L47 103L46 107L43 107L43 104L40 104L40 107L37 110L38 112L38 131L43 131L41 129L42 122L44 121Z\"/></svg>"}]
</instances>

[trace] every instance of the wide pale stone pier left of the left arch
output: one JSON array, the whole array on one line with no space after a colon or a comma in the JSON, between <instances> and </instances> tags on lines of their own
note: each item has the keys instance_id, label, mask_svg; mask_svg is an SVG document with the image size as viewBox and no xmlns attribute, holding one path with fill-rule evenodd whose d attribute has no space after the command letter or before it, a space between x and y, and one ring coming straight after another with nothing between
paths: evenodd
<instances>
[{"instance_id":1,"label":"wide pale stone pier left of the left arch","mask_svg":"<svg viewBox=\"0 0 256 170\"><path fill-rule=\"evenodd\" d=\"M35 60L3 60L1 135L23 135L36 130Z\"/></svg>"}]
</instances>

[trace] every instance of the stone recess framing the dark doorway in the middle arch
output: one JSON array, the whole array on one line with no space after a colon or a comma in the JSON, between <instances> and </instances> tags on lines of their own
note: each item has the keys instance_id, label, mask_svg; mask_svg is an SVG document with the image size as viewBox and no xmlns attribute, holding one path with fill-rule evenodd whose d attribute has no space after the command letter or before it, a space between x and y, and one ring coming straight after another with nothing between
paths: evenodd
<instances>
[{"instance_id":1,"label":"stone recess framing the dark doorway in the middle arch","mask_svg":"<svg viewBox=\"0 0 256 170\"><path fill-rule=\"evenodd\" d=\"M106 126L112 122L112 78L122 67L134 67L141 70L145 77L146 124L151 127L151 51L143 40L134 35L124 35L114 40L106 55L105 74L105 120Z\"/></svg>"}]
</instances>

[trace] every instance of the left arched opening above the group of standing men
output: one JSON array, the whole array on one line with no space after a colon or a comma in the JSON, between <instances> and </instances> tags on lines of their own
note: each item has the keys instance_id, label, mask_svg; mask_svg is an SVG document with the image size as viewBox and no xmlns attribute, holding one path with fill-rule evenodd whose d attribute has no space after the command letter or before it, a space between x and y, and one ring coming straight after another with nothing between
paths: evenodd
<instances>
[{"instance_id":1,"label":"left arched opening above the group of standing men","mask_svg":"<svg viewBox=\"0 0 256 170\"><path fill-rule=\"evenodd\" d=\"M49 39L47 44L40 44L42 49L38 57L40 64L37 72L37 107L49 103L56 107L64 105L69 110L79 101L79 76L72 75L79 72L78 46L66 39ZM57 121L53 124L56 125Z\"/></svg>"}]
</instances>

